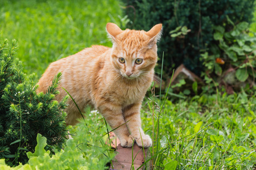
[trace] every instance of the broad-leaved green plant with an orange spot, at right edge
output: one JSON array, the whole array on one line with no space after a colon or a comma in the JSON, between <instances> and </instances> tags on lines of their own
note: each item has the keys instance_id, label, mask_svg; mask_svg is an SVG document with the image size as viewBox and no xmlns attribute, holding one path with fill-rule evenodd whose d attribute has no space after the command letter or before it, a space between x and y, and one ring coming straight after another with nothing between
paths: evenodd
<instances>
[{"instance_id":1,"label":"broad-leaved green plant with an orange spot, at right edge","mask_svg":"<svg viewBox=\"0 0 256 170\"><path fill-rule=\"evenodd\" d=\"M206 68L205 80L209 83L212 80L209 78L213 78L217 86L228 84L233 88L240 88L242 82L246 82L248 87L255 88L256 34L249 31L247 22L236 25L227 19L233 28L225 31L224 26L214 27L218 46L210 47L210 54L201 55Z\"/></svg>"}]
</instances>

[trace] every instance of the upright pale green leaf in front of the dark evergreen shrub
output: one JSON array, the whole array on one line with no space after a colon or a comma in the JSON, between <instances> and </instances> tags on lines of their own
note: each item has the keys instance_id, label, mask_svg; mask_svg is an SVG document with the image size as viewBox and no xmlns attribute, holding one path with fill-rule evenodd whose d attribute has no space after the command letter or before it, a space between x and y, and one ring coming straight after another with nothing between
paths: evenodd
<instances>
[{"instance_id":1,"label":"upright pale green leaf in front of the dark evergreen shrub","mask_svg":"<svg viewBox=\"0 0 256 170\"><path fill-rule=\"evenodd\" d=\"M42 137L41 134L38 134L38 136L36 137L36 141L38 142L38 145L36 145L35 147L35 152L34 154L32 154L32 152L27 152L27 157L30 159L34 156L44 156L44 154L49 154L50 151L44 150L44 147L46 147L47 143L47 139L46 137Z\"/></svg>"}]
</instances>

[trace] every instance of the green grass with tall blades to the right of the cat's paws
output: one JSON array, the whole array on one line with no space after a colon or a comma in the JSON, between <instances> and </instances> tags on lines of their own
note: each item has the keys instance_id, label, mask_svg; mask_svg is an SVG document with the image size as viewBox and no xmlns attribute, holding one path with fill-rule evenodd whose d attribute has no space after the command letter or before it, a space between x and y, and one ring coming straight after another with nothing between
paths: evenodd
<instances>
[{"instance_id":1,"label":"green grass with tall blades to the right of the cat's paws","mask_svg":"<svg viewBox=\"0 0 256 170\"><path fill-rule=\"evenodd\" d=\"M176 169L256 168L255 96L218 94L177 103L167 100L159 117L159 129L160 107L152 101L147 102L141 117L151 137L154 131L154 147L150 148L155 153L154 169L175 169L175 165Z\"/></svg>"}]
</instances>

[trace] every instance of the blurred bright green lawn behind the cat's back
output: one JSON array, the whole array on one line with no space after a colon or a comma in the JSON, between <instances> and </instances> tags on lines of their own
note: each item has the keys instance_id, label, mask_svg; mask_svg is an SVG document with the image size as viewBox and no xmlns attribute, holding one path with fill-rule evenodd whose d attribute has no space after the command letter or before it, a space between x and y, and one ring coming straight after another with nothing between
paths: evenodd
<instances>
[{"instance_id":1,"label":"blurred bright green lawn behind the cat's back","mask_svg":"<svg viewBox=\"0 0 256 170\"><path fill-rule=\"evenodd\" d=\"M0 1L2 36L19 43L24 73L39 78L49 63L93 44L112 46L106 23L121 24L117 0Z\"/></svg>"}]
</instances>

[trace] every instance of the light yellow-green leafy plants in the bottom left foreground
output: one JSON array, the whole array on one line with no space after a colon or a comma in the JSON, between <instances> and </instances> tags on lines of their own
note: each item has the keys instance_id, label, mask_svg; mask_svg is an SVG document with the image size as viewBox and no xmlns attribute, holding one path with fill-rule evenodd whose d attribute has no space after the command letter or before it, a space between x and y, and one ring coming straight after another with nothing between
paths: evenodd
<instances>
[{"instance_id":1,"label":"light yellow-green leafy plants in the bottom left foreground","mask_svg":"<svg viewBox=\"0 0 256 170\"><path fill-rule=\"evenodd\" d=\"M73 139L68 139L64 148L60 151L52 148L54 155L44 149L47 139L38 134L34 153L24 155L29 158L27 164L10 168L0 160L0 169L108 169L108 163L115 154L105 143L108 135L104 120L95 111L90 112L89 116L86 122L81 121L71 129Z\"/></svg>"}]
</instances>

